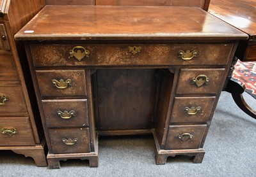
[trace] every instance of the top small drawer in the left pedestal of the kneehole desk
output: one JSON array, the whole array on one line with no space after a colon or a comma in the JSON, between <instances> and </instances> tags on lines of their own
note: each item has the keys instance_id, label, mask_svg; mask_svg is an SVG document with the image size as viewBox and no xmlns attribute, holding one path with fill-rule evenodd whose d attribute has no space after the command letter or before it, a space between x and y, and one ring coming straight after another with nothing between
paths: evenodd
<instances>
[{"instance_id":1,"label":"top small drawer in the left pedestal of the kneehole desk","mask_svg":"<svg viewBox=\"0 0 256 177\"><path fill-rule=\"evenodd\" d=\"M36 71L42 97L86 96L84 70Z\"/></svg>"}]
</instances>

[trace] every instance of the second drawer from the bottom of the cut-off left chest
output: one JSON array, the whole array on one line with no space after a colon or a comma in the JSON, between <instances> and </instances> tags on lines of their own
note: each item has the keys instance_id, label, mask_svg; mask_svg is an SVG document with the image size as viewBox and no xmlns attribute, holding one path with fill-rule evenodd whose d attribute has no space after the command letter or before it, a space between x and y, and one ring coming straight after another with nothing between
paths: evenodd
<instances>
[{"instance_id":1,"label":"second drawer from the bottom of the cut-off left chest","mask_svg":"<svg viewBox=\"0 0 256 177\"><path fill-rule=\"evenodd\" d=\"M0 86L0 113L27 112L20 86Z\"/></svg>"}]
</instances>

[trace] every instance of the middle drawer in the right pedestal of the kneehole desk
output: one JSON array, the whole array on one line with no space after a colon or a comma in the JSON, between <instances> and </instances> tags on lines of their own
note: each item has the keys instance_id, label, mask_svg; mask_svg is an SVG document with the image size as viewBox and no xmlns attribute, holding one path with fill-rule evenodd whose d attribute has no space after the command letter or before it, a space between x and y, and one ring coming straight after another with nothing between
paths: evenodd
<instances>
[{"instance_id":1,"label":"middle drawer in the right pedestal of the kneehole desk","mask_svg":"<svg viewBox=\"0 0 256 177\"><path fill-rule=\"evenodd\" d=\"M170 123L206 123L215 97L175 97Z\"/></svg>"}]
</instances>

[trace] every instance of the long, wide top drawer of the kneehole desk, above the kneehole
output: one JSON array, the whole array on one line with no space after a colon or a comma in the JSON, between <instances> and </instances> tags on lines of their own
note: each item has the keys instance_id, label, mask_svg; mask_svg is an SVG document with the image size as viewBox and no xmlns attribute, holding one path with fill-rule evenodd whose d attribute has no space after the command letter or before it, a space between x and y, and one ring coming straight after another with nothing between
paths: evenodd
<instances>
[{"instance_id":1,"label":"long, wide top drawer of the kneehole desk, above the kneehole","mask_svg":"<svg viewBox=\"0 0 256 177\"><path fill-rule=\"evenodd\" d=\"M30 45L35 66L224 65L232 44Z\"/></svg>"}]
</instances>

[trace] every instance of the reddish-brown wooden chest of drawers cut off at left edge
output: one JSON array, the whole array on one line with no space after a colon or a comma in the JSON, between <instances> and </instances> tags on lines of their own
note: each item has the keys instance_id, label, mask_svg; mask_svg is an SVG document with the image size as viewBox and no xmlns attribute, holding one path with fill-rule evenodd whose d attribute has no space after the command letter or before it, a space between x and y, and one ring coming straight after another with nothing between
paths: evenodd
<instances>
[{"instance_id":1,"label":"reddish-brown wooden chest of drawers cut off at left edge","mask_svg":"<svg viewBox=\"0 0 256 177\"><path fill-rule=\"evenodd\" d=\"M43 6L40 1L0 1L0 150L47 166L45 139L24 46L13 35ZM24 70L22 70L24 69ZM28 85L27 85L28 84Z\"/></svg>"}]
</instances>

